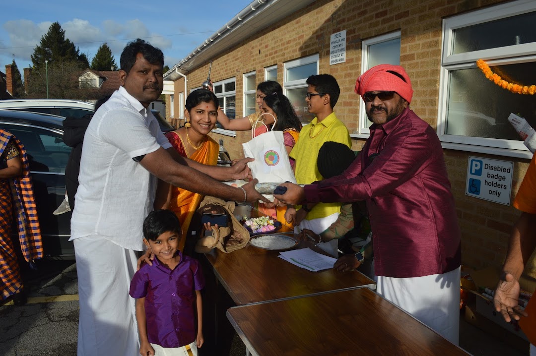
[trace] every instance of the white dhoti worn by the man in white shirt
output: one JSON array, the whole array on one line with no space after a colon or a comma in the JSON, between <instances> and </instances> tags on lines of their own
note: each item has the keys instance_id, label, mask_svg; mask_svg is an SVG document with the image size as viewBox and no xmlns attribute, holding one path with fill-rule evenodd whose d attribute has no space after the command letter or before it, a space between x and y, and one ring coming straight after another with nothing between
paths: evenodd
<instances>
[{"instance_id":1,"label":"white dhoti worn by the man in white shirt","mask_svg":"<svg viewBox=\"0 0 536 356\"><path fill-rule=\"evenodd\" d=\"M136 253L101 236L73 241L80 300L78 356L138 355L135 299L129 296Z\"/></svg>"}]
</instances>

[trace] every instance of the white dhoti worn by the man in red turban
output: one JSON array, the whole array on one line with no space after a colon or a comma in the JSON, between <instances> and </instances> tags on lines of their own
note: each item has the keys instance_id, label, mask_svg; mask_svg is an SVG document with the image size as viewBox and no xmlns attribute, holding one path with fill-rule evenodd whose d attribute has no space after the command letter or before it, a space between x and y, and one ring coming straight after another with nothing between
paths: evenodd
<instances>
[{"instance_id":1,"label":"white dhoti worn by the man in red turban","mask_svg":"<svg viewBox=\"0 0 536 356\"><path fill-rule=\"evenodd\" d=\"M376 292L458 345L460 268L422 277L377 276Z\"/></svg>"}]
</instances>

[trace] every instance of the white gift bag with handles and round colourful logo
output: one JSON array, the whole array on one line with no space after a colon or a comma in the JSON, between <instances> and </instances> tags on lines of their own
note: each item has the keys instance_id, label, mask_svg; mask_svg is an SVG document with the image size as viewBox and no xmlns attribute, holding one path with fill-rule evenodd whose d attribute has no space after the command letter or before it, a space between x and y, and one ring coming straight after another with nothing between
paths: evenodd
<instances>
[{"instance_id":1,"label":"white gift bag with handles and round colourful logo","mask_svg":"<svg viewBox=\"0 0 536 356\"><path fill-rule=\"evenodd\" d=\"M263 115L270 114L263 113L259 119ZM253 178L258 179L259 183L283 183L285 181L296 183L285 149L283 132L268 131L255 137L256 126L255 124L251 132L251 141L242 143L244 155L255 158L255 161L248 163Z\"/></svg>"}]
</instances>

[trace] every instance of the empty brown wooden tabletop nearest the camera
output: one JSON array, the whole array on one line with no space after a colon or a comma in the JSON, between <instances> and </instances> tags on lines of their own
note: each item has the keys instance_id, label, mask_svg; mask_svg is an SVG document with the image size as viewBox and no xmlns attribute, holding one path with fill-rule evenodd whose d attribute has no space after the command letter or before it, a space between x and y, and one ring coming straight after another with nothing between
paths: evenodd
<instances>
[{"instance_id":1,"label":"empty brown wooden tabletop nearest the camera","mask_svg":"<svg viewBox=\"0 0 536 356\"><path fill-rule=\"evenodd\" d=\"M368 288L230 308L252 355L467 355Z\"/></svg>"}]
</instances>

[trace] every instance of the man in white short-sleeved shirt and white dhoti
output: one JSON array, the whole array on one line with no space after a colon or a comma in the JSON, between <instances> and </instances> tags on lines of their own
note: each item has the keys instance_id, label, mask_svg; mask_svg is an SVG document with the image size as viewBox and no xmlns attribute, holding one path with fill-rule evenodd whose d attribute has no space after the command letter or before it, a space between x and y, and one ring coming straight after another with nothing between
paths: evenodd
<instances>
[{"instance_id":1,"label":"man in white short-sleeved shirt and white dhoti","mask_svg":"<svg viewBox=\"0 0 536 356\"><path fill-rule=\"evenodd\" d=\"M71 219L80 300L79 356L138 353L134 300L128 291L136 251L144 249L142 224L152 210L157 178L222 199L265 200L255 191L256 180L243 188L215 180L244 179L249 160L223 168L175 154L147 110L162 93L162 68L161 50L140 39L127 44L121 54L121 87L95 112L84 137Z\"/></svg>"}]
</instances>

